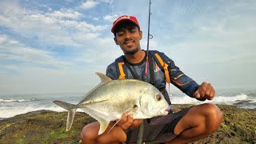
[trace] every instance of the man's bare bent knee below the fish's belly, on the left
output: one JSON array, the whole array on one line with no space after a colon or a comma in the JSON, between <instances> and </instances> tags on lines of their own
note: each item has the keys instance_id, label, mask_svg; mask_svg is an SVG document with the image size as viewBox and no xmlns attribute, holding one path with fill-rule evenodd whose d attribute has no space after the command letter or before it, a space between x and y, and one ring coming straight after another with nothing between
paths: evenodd
<instances>
[{"instance_id":1,"label":"man's bare bent knee below the fish's belly, on the left","mask_svg":"<svg viewBox=\"0 0 256 144\"><path fill-rule=\"evenodd\" d=\"M121 126L114 126L112 130L110 128L113 126L113 123L108 126L106 131L98 135L99 123L93 122L86 125L82 129L81 139L82 143L89 144L100 144L100 143L119 143L126 141L126 134L122 130ZM106 134L110 130L109 134Z\"/></svg>"}]
</instances>

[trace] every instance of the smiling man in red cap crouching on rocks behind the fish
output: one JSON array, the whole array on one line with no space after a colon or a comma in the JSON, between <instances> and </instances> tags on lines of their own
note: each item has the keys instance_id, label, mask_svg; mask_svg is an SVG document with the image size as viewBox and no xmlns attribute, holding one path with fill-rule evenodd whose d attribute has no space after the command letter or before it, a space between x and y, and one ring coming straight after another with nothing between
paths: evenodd
<instances>
[{"instance_id":1,"label":"smiling man in red cap crouching on rocks behind the fish","mask_svg":"<svg viewBox=\"0 0 256 144\"><path fill-rule=\"evenodd\" d=\"M106 74L112 79L144 80L146 51L142 50L140 46L142 31L137 19L124 15L114 21L111 31L114 33L114 42L120 46L124 56L110 64ZM169 104L171 104L170 98L166 92L168 78L174 86L192 98L198 100L214 98L215 90L210 83L202 82L201 85L198 85L186 74L183 74L165 54L152 50L150 58L150 66L148 66L150 73L148 73L146 81L154 84ZM164 70L160 63L165 63L168 66L167 69ZM222 122L222 112L214 104L206 103L186 108L174 114L170 110L170 114L166 116L147 120L133 119L132 115L126 115L112 130L110 127L114 125L114 122L110 123L106 130L106 132L110 130L109 134L105 132L101 135L98 135L99 123L93 122L83 128L82 142L134 143L137 140L138 126L142 121L144 121L143 142L186 143L204 138L217 130Z\"/></svg>"}]
</instances>

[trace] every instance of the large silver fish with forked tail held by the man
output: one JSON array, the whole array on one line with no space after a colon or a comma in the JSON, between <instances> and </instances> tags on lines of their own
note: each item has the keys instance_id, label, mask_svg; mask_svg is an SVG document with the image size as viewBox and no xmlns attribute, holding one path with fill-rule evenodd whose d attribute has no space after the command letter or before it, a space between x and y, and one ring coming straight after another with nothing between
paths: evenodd
<instances>
[{"instance_id":1,"label":"large silver fish with forked tail held by the man","mask_svg":"<svg viewBox=\"0 0 256 144\"><path fill-rule=\"evenodd\" d=\"M77 105L54 101L68 110L66 131L70 130L77 109L83 110L99 122L98 134L104 133L110 122L120 120L123 114L133 114L134 119L168 114L169 104L162 93L150 83L137 79L112 80L105 74L95 74L101 82L85 94Z\"/></svg>"}]
</instances>

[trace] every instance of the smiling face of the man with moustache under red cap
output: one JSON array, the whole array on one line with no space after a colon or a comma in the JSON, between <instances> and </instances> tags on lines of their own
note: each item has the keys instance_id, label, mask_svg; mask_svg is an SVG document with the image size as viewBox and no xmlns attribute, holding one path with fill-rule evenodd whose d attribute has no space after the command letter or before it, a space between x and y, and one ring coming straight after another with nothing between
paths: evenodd
<instances>
[{"instance_id":1,"label":"smiling face of the man with moustache under red cap","mask_svg":"<svg viewBox=\"0 0 256 144\"><path fill-rule=\"evenodd\" d=\"M138 26L126 22L118 27L114 41L121 47L124 54L133 55L138 50L141 50L140 40L142 39L142 31L138 30Z\"/></svg>"}]
</instances>

